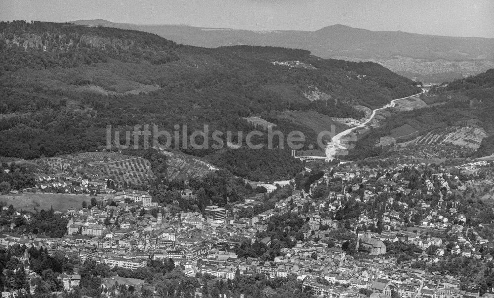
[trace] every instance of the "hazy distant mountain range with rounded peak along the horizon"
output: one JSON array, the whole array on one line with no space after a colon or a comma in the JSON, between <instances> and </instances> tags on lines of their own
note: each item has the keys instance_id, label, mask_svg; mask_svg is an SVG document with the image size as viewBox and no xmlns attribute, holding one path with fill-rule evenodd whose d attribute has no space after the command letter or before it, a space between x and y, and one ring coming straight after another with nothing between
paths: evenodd
<instances>
[{"instance_id":1,"label":"hazy distant mountain range with rounded peak along the horizon","mask_svg":"<svg viewBox=\"0 0 494 298\"><path fill-rule=\"evenodd\" d=\"M322 58L377 62L399 74L424 82L452 80L494 67L494 38L369 31L343 25L328 26L313 32L253 32L121 24L105 20L80 20L73 23L145 31L177 43L209 48L256 45L306 49Z\"/></svg>"}]
</instances>

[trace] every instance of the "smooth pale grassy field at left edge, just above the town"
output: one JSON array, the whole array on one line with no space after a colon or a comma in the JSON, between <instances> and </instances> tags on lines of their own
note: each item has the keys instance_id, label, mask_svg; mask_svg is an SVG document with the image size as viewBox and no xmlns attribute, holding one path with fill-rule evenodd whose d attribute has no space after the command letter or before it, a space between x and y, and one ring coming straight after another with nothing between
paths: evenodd
<instances>
[{"instance_id":1,"label":"smooth pale grassy field at left edge, just above the town","mask_svg":"<svg viewBox=\"0 0 494 298\"><path fill-rule=\"evenodd\" d=\"M0 201L6 206L12 204L17 210L48 210L53 206L55 211L65 212L70 207L80 208L82 201L89 203L91 198L89 195L23 193L0 196Z\"/></svg>"}]
</instances>

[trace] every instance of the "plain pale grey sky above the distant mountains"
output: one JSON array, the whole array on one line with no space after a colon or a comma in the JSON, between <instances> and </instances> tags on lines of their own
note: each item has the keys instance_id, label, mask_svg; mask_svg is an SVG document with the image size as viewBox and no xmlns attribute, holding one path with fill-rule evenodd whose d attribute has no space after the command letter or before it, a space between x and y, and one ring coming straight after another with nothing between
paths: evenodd
<instances>
[{"instance_id":1,"label":"plain pale grey sky above the distant mountains","mask_svg":"<svg viewBox=\"0 0 494 298\"><path fill-rule=\"evenodd\" d=\"M0 0L0 19L186 24L248 30L356 28L494 37L492 0Z\"/></svg>"}]
</instances>

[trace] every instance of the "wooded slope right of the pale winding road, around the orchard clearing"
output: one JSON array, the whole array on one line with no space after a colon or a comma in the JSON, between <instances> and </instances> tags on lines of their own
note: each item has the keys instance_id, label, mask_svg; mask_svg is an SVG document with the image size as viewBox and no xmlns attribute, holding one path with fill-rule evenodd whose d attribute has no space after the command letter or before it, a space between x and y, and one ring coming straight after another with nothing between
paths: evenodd
<instances>
[{"instance_id":1,"label":"wooded slope right of the pale winding road, around the orchard clearing","mask_svg":"<svg viewBox=\"0 0 494 298\"><path fill-rule=\"evenodd\" d=\"M379 138L390 135L393 130L404 125L409 125L417 133L400 139L400 142L441 128L483 128L488 137L482 140L472 157L494 154L494 69L455 80L444 88L431 89L426 100L431 103L429 107L399 112L385 119L383 126L362 135L347 158L388 154L389 147L376 145Z\"/></svg>"}]
</instances>

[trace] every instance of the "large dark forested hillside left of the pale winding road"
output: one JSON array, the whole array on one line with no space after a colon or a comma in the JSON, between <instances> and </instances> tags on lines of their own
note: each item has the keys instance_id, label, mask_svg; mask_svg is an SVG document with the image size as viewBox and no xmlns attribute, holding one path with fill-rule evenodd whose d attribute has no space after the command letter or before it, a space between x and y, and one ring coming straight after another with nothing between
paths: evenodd
<instances>
[{"instance_id":1,"label":"large dark forested hillside left of the pale winding road","mask_svg":"<svg viewBox=\"0 0 494 298\"><path fill-rule=\"evenodd\" d=\"M131 131L136 124L156 124L173 132L178 124L187 125L190 134L208 124L210 132L233 131L235 137L240 131L245 138L256 128L243 117L262 113L274 115L270 121L279 118L277 130L304 132L307 148L316 145L318 132L286 121L283 111L360 118L363 113L354 104L381 106L417 93L411 80L377 64L324 60L304 50L205 49L151 33L24 21L1 22L0 38L0 155L7 157L103 149L107 125ZM309 67L275 61L300 61ZM329 96L307 99L304 93L315 88ZM232 149L181 150L213 161L232 154ZM265 150L258 155L245 151L245 163L268 157ZM286 156L288 164L263 162L291 168L295 161ZM287 178L291 170L273 173L269 178Z\"/></svg>"}]
</instances>

